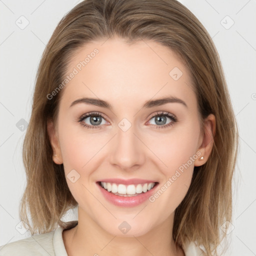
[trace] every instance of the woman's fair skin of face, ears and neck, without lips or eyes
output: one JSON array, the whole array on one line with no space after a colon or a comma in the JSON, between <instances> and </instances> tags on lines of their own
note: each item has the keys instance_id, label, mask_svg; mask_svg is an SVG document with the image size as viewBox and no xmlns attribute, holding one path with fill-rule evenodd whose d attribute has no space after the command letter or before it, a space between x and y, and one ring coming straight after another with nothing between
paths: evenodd
<instances>
[{"instance_id":1,"label":"woman's fair skin of face, ears and neck, without lips or eyes","mask_svg":"<svg viewBox=\"0 0 256 256\"><path fill-rule=\"evenodd\" d=\"M80 175L74 183L66 178L78 202L77 226L62 233L67 254L184 255L172 238L174 210L188 190L193 167L207 161L215 117L210 114L204 120L205 133L200 133L189 71L166 46L150 40L129 45L118 37L91 41L75 52L67 73L94 48L99 53L62 89L55 126L47 123L56 154L53 161L63 163L65 175L72 169ZM183 73L178 80L169 75L173 67ZM172 102L142 108L147 100L166 95L182 99L187 107ZM85 103L69 107L81 97L106 100L113 109ZM97 125L101 128L88 129L77 122L91 111L104 115ZM163 125L157 124L155 117L150 118L157 111L171 113L178 121L157 128L172 121L166 117ZM118 127L124 117L131 123L125 132ZM96 126L89 117L83 122ZM105 200L95 183L103 178L145 178L157 180L160 187L196 151L204 159L195 159L154 202L115 206ZM131 226L126 234L118 229L124 220Z\"/></svg>"}]
</instances>

